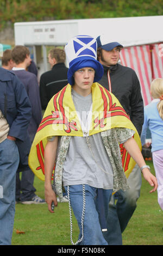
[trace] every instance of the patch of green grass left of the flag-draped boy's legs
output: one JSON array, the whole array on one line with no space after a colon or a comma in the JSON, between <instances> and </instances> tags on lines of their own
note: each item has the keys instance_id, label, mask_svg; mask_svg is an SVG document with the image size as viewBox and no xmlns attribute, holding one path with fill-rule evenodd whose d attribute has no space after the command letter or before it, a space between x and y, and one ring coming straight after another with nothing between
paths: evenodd
<instances>
[{"instance_id":1,"label":"patch of green grass left of the flag-draped boy's legs","mask_svg":"<svg viewBox=\"0 0 163 256\"><path fill-rule=\"evenodd\" d=\"M44 184L35 177L36 194L44 198ZM70 245L68 203L58 203L54 214L47 204L16 204L12 245ZM16 230L25 232L17 234ZM78 226L73 216L73 239L78 240Z\"/></svg>"}]
</instances>

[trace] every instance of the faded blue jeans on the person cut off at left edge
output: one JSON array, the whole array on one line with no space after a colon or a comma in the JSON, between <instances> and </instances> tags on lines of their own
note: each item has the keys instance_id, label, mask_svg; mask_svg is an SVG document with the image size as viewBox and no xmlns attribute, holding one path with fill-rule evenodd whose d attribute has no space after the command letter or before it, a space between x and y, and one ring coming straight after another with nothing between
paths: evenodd
<instances>
[{"instance_id":1,"label":"faded blue jeans on the person cut off at left edge","mask_svg":"<svg viewBox=\"0 0 163 256\"><path fill-rule=\"evenodd\" d=\"M15 141L5 139L0 143L0 245L11 245L15 217L15 177L19 154Z\"/></svg>"}]
</instances>

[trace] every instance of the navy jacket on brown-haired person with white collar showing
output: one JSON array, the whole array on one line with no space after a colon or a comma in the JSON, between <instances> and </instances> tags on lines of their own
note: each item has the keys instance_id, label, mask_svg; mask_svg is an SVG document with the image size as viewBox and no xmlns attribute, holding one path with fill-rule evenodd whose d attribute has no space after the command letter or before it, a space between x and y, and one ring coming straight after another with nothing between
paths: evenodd
<instances>
[{"instance_id":1,"label":"navy jacket on brown-haired person with white collar showing","mask_svg":"<svg viewBox=\"0 0 163 256\"><path fill-rule=\"evenodd\" d=\"M32 106L32 118L28 126L30 140L33 142L36 131L42 120L42 109L40 101L39 84L36 75L26 70L12 70L26 88L30 104Z\"/></svg>"}]
</instances>

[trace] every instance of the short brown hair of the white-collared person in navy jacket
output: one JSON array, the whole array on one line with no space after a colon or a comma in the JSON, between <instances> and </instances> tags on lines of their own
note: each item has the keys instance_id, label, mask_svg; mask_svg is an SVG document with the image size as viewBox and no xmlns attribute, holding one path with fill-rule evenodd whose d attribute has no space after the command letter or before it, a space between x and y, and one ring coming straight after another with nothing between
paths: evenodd
<instances>
[{"instance_id":1,"label":"short brown hair of the white-collared person in navy jacket","mask_svg":"<svg viewBox=\"0 0 163 256\"><path fill-rule=\"evenodd\" d=\"M20 63L24 62L24 59L26 59L26 57L29 55L30 55L29 49L23 45L15 46L11 53L12 60L16 64L20 64Z\"/></svg>"}]
</instances>

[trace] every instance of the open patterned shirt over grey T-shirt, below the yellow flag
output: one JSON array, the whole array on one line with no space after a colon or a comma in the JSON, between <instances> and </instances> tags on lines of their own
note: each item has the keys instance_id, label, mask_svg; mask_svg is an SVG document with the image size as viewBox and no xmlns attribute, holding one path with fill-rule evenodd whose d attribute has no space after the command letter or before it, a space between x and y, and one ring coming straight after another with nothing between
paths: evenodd
<instances>
[{"instance_id":1,"label":"open patterned shirt over grey T-shirt, below the yellow flag","mask_svg":"<svg viewBox=\"0 0 163 256\"><path fill-rule=\"evenodd\" d=\"M133 137L134 133L135 132L133 130L126 128L114 128L101 132L103 144L110 159L114 173L113 192L118 190L127 190L129 188L127 178L122 167L120 143L123 143L127 141L127 139ZM62 170L70 140L71 136L61 136L57 149L57 159L52 187L55 193L58 194L61 202L63 198Z\"/></svg>"}]
</instances>

